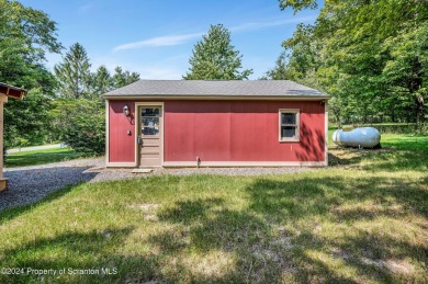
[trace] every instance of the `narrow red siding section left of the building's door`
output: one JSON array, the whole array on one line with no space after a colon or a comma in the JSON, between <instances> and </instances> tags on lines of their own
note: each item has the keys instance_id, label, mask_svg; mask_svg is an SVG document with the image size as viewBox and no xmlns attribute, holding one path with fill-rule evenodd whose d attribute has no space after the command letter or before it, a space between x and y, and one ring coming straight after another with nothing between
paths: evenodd
<instances>
[{"instance_id":1,"label":"narrow red siding section left of the building's door","mask_svg":"<svg viewBox=\"0 0 428 284\"><path fill-rule=\"evenodd\" d=\"M135 102L109 101L109 161L134 162L135 161ZM131 116L123 114L123 106L128 105ZM131 130L131 135L126 132Z\"/></svg>"}]
</instances>

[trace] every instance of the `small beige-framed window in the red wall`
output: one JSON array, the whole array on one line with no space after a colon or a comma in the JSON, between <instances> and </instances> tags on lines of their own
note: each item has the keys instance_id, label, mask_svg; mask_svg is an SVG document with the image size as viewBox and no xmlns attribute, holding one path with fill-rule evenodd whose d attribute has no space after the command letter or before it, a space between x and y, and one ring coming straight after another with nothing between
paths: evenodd
<instances>
[{"instance_id":1,"label":"small beige-framed window in the red wall","mask_svg":"<svg viewBox=\"0 0 428 284\"><path fill-rule=\"evenodd\" d=\"M280 110L280 141L299 141L300 110Z\"/></svg>"}]
</instances>

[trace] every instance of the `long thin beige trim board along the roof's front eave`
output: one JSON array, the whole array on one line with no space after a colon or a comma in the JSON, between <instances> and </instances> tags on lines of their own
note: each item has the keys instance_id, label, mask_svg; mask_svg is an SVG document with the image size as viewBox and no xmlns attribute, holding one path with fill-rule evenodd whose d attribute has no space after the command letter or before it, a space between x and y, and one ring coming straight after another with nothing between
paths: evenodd
<instances>
[{"instance_id":1,"label":"long thin beige trim board along the roof's front eave","mask_svg":"<svg viewBox=\"0 0 428 284\"><path fill-rule=\"evenodd\" d=\"M234 100L234 101L319 101L329 100L330 96L307 96L307 95L104 95L105 100Z\"/></svg>"}]
</instances>

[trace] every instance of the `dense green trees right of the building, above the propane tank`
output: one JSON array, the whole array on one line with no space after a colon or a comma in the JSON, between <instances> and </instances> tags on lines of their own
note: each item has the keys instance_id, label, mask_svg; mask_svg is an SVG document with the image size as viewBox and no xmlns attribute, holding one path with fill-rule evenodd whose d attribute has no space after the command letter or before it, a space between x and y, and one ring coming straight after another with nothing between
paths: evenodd
<instances>
[{"instance_id":1,"label":"dense green trees right of the building, above the propane tank","mask_svg":"<svg viewBox=\"0 0 428 284\"><path fill-rule=\"evenodd\" d=\"M316 9L316 0L279 0ZM341 123L424 122L428 2L325 1L314 24L299 24L266 79L290 79L329 93Z\"/></svg>"}]
</instances>

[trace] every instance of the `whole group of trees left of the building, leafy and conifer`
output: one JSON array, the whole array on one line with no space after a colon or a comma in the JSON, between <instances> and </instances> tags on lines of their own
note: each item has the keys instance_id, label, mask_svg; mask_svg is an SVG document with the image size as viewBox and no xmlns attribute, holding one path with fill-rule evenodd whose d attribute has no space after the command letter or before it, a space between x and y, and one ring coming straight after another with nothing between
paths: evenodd
<instances>
[{"instance_id":1,"label":"whole group of trees left of the building, leafy and conifer","mask_svg":"<svg viewBox=\"0 0 428 284\"><path fill-rule=\"evenodd\" d=\"M105 116L101 94L139 79L136 72L104 66L91 72L76 43L55 66L46 53L60 54L57 24L40 10L0 0L0 81L27 91L4 107L4 148L61 140L80 151L104 151ZM3 149L4 150L4 149Z\"/></svg>"}]
</instances>

